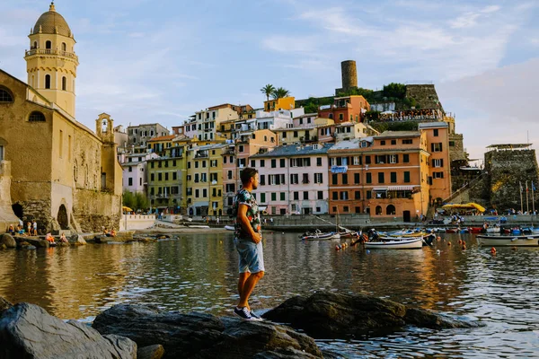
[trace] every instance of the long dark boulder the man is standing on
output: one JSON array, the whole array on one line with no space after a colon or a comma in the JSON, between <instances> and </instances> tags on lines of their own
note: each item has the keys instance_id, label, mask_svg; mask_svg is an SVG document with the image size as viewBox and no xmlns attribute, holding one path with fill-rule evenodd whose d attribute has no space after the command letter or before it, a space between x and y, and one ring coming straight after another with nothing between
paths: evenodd
<instances>
[{"instance_id":1,"label":"long dark boulder the man is standing on","mask_svg":"<svg viewBox=\"0 0 539 359\"><path fill-rule=\"evenodd\" d=\"M320 358L314 339L268 321L247 321L211 314L161 311L147 305L119 304L99 314L93 328L128 337L138 346L161 344L164 358L276 357L270 352L294 352L295 358Z\"/></svg>"}]
</instances>

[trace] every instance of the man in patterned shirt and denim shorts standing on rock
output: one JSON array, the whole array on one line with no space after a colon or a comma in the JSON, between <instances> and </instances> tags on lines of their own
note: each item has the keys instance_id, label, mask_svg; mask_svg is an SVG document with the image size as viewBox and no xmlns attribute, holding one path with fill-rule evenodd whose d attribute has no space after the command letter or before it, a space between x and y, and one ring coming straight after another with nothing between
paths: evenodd
<instances>
[{"instance_id":1,"label":"man in patterned shirt and denim shorts standing on rock","mask_svg":"<svg viewBox=\"0 0 539 359\"><path fill-rule=\"evenodd\" d=\"M264 276L262 252L261 215L252 190L258 188L259 174L253 168L245 168L240 174L243 188L234 197L234 245L239 255L240 301L234 313L244 320L261 320L249 306L254 286Z\"/></svg>"}]
</instances>

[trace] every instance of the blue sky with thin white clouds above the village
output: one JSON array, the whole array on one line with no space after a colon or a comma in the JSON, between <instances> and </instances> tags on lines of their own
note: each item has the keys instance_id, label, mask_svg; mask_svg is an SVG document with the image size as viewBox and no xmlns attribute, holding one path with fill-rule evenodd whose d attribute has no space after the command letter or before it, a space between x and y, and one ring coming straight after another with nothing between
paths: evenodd
<instances>
[{"instance_id":1,"label":"blue sky with thin white clouds above the village","mask_svg":"<svg viewBox=\"0 0 539 359\"><path fill-rule=\"evenodd\" d=\"M3 1L0 68L26 82L28 34L48 1ZM76 118L180 125L220 103L262 106L266 83L297 99L340 87L435 83L472 158L539 143L539 2L93 0L55 2L75 34Z\"/></svg>"}]
</instances>

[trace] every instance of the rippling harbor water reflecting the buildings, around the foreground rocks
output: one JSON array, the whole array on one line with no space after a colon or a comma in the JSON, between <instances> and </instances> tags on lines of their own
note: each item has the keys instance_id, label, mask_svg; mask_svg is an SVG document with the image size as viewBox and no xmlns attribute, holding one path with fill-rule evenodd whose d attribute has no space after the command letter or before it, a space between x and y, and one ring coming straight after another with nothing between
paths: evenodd
<instances>
[{"instance_id":1,"label":"rippling harbor water reflecting the buildings, around the foreground rocks","mask_svg":"<svg viewBox=\"0 0 539 359\"><path fill-rule=\"evenodd\" d=\"M477 246L441 234L422 250L335 250L339 241L265 233L266 276L251 305L267 310L296 294L369 293L481 321L481 328L402 328L384 337L318 340L349 357L539 357L539 249ZM0 296L61 319L90 322L122 302L233 315L237 256L230 232L173 233L128 244L0 251ZM466 242L463 250L459 240ZM451 243L451 245L448 245Z\"/></svg>"}]
</instances>

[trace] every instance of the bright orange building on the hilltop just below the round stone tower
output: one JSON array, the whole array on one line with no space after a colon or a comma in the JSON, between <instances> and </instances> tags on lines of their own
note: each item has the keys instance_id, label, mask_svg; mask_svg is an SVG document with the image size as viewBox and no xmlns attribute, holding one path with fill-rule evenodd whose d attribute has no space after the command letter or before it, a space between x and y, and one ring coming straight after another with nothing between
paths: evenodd
<instances>
[{"instance_id":1,"label":"bright orange building on the hilltop just below the round stone tower","mask_svg":"<svg viewBox=\"0 0 539 359\"><path fill-rule=\"evenodd\" d=\"M364 112L370 109L367 100L361 95L336 97L332 105L320 106L319 118L332 118L336 124L341 122L363 122Z\"/></svg>"}]
</instances>

